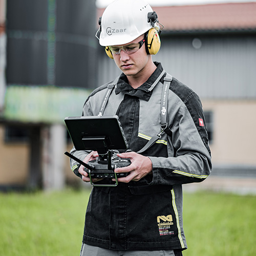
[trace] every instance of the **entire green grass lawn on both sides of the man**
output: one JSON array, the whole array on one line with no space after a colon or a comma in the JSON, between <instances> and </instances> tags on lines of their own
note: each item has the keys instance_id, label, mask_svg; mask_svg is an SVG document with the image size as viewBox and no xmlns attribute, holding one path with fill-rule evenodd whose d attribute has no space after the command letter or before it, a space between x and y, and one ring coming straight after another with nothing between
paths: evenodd
<instances>
[{"instance_id":1,"label":"entire green grass lawn on both sides of the man","mask_svg":"<svg viewBox=\"0 0 256 256\"><path fill-rule=\"evenodd\" d=\"M0 255L78 256L90 191L0 193ZM252 256L256 197L184 194L184 256Z\"/></svg>"}]
</instances>

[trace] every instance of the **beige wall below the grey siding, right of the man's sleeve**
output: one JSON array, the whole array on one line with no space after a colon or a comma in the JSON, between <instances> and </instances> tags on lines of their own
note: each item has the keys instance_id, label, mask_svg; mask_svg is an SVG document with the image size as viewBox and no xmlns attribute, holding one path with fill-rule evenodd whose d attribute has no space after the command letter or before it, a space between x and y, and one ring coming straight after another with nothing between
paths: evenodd
<instances>
[{"instance_id":1,"label":"beige wall below the grey siding, right of the man's sleeve","mask_svg":"<svg viewBox=\"0 0 256 256\"><path fill-rule=\"evenodd\" d=\"M256 170L256 100L204 100L203 109L214 115L212 162Z\"/></svg>"}]
</instances>

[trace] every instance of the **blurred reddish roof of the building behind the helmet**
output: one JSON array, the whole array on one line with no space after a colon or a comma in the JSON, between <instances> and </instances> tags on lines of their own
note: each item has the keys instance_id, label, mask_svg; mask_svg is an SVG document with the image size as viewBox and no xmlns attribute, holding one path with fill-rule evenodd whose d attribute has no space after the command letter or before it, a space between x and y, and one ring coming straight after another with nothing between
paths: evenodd
<instances>
[{"instance_id":1,"label":"blurred reddish roof of the building behind the helmet","mask_svg":"<svg viewBox=\"0 0 256 256\"><path fill-rule=\"evenodd\" d=\"M152 7L163 32L256 31L256 3ZM98 9L98 17L104 9Z\"/></svg>"}]
</instances>

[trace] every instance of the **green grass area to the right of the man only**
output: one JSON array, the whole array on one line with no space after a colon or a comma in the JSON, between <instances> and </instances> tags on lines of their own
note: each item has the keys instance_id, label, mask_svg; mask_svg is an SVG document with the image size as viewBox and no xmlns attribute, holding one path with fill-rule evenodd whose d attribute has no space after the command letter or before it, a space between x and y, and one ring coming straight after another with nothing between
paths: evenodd
<instances>
[{"instance_id":1,"label":"green grass area to the right of the man only","mask_svg":"<svg viewBox=\"0 0 256 256\"><path fill-rule=\"evenodd\" d=\"M185 194L184 256L256 255L256 196Z\"/></svg>"}]
</instances>

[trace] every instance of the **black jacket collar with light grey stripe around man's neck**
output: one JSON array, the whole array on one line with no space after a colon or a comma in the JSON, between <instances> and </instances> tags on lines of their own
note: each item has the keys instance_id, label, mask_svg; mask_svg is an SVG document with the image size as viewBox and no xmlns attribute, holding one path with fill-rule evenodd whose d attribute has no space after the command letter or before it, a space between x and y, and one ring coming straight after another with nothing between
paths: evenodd
<instances>
[{"instance_id":1,"label":"black jacket collar with light grey stripe around man's neck","mask_svg":"<svg viewBox=\"0 0 256 256\"><path fill-rule=\"evenodd\" d=\"M138 97L140 99L148 101L152 95L152 90L156 86L156 83L162 78L164 71L160 62L154 62L157 66L157 69L154 73L137 89L133 89L132 86L128 83L126 75L123 73L120 75L117 82L117 87L115 93L119 94L124 92L124 94L129 94L131 96ZM156 82L157 81L157 82Z\"/></svg>"}]
</instances>

